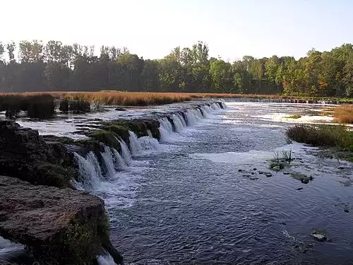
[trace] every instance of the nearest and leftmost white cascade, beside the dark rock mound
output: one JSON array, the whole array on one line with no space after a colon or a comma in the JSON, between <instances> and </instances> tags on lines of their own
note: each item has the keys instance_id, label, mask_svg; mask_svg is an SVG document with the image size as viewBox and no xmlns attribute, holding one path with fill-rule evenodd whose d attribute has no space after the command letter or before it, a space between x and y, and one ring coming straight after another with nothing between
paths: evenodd
<instances>
[{"instance_id":1,"label":"nearest and leftmost white cascade, beside the dark rock mound","mask_svg":"<svg viewBox=\"0 0 353 265\"><path fill-rule=\"evenodd\" d=\"M86 155L86 158L74 153L78 170L80 172L80 183L85 190L92 190L97 187L102 178L100 165L93 152Z\"/></svg>"}]
</instances>

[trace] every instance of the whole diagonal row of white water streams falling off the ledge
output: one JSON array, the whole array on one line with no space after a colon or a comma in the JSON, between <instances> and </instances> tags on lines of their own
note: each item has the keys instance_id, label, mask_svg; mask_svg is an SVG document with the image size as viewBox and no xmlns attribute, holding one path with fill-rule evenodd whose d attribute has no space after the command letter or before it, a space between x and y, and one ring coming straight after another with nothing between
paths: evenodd
<instances>
[{"instance_id":1,"label":"whole diagonal row of white water streams falling off the ledge","mask_svg":"<svg viewBox=\"0 0 353 265\"><path fill-rule=\"evenodd\" d=\"M208 113L214 110L220 110L219 104L213 104L210 107L203 105L194 110L187 110L184 114L175 113L172 114L170 119L174 126L167 117L160 119L160 135L161 142L172 142L173 134L183 131L186 126L194 126L201 119L208 117ZM174 132L175 131L175 132ZM92 191L99 187L100 182L106 179L115 179L116 173L119 170L126 170L131 165L132 157L140 155L143 151L158 150L160 143L157 139L152 137L152 133L148 131L148 136L138 138L132 131L129 132L129 147L122 140L118 140L121 145L121 153L116 151L114 148L111 149L108 146L104 146L104 152L102 155L102 165L97 160L95 153L88 153L85 158L75 153L75 160L78 164L80 171L80 185L85 190ZM103 174L104 172L104 174Z\"/></svg>"}]
</instances>

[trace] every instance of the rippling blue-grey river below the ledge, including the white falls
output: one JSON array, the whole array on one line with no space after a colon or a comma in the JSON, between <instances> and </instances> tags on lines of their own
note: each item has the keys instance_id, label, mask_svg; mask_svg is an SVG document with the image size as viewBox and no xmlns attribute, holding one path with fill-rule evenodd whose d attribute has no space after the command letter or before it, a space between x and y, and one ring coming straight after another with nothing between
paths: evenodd
<instances>
[{"instance_id":1,"label":"rippling blue-grey river below the ledge, including the white falls","mask_svg":"<svg viewBox=\"0 0 353 265\"><path fill-rule=\"evenodd\" d=\"M78 187L104 199L126 264L353 264L352 163L285 137L291 123L330 122L315 114L322 106L226 105L175 112L174 125L161 118L160 143L131 133L121 153L105 149L101 166L93 153L76 155ZM291 166L269 170L282 151L292 151ZM328 242L313 240L313 228Z\"/></svg>"}]
</instances>

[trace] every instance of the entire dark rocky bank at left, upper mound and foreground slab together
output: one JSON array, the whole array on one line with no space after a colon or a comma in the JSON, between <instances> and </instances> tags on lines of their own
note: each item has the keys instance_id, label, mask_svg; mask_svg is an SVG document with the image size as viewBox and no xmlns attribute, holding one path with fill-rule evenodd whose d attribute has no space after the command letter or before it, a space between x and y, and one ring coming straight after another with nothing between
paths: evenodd
<instances>
[{"instance_id":1,"label":"entire dark rocky bank at left, upper mound and foreground slab together","mask_svg":"<svg viewBox=\"0 0 353 265\"><path fill-rule=\"evenodd\" d=\"M78 177L72 152L11 120L1 120L0 130L0 236L25 245L37 261L95 264L108 252L122 264L109 240L104 201L70 183Z\"/></svg>"}]
</instances>

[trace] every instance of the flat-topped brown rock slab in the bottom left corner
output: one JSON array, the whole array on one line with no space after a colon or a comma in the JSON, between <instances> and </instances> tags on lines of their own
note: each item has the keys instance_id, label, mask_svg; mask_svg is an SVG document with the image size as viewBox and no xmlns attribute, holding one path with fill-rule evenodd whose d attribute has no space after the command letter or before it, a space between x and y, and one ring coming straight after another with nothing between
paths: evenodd
<instances>
[{"instance_id":1,"label":"flat-topped brown rock slab in the bottom left corner","mask_svg":"<svg viewBox=\"0 0 353 265\"><path fill-rule=\"evenodd\" d=\"M26 245L38 261L91 264L105 249L122 264L97 196L0 176L0 201L0 235Z\"/></svg>"}]
</instances>

